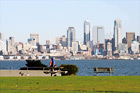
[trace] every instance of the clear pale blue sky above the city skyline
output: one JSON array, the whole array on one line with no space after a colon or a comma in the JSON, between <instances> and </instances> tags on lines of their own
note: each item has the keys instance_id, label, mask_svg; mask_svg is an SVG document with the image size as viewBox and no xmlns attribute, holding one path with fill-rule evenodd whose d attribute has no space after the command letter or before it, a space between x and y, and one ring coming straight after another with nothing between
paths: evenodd
<instances>
[{"instance_id":1,"label":"clear pale blue sky above the city skyline","mask_svg":"<svg viewBox=\"0 0 140 93\"><path fill-rule=\"evenodd\" d=\"M113 36L114 20L122 20L126 32L140 35L140 0L0 0L0 32L5 39L27 42L30 33L39 33L41 44L55 43L57 36L66 35L75 27L76 40L83 42L83 23L102 25L105 37Z\"/></svg>"}]
</instances>

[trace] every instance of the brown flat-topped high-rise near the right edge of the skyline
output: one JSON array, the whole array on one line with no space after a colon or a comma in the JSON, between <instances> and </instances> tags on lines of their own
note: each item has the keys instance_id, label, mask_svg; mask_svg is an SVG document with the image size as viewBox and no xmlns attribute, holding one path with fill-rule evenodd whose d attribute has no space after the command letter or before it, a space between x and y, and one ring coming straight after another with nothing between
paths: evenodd
<instances>
[{"instance_id":1,"label":"brown flat-topped high-rise near the right edge of the skyline","mask_svg":"<svg viewBox=\"0 0 140 93\"><path fill-rule=\"evenodd\" d=\"M131 50L131 42L135 40L135 32L126 32L126 42L128 45L128 52Z\"/></svg>"}]
</instances>

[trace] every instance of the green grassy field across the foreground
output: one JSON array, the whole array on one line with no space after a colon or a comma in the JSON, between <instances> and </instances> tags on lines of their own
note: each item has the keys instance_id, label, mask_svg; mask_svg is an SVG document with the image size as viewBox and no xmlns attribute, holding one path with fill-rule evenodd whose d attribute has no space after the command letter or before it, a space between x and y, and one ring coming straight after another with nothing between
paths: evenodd
<instances>
[{"instance_id":1,"label":"green grassy field across the foreground","mask_svg":"<svg viewBox=\"0 0 140 93\"><path fill-rule=\"evenodd\" d=\"M140 76L0 77L0 93L140 93Z\"/></svg>"}]
</instances>

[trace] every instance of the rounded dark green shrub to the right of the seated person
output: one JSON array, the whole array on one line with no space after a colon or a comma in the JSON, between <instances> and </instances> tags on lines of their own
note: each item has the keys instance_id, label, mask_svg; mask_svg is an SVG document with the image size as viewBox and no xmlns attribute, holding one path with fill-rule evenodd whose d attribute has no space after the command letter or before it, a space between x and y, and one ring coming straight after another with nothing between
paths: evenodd
<instances>
[{"instance_id":1,"label":"rounded dark green shrub to the right of the seated person","mask_svg":"<svg viewBox=\"0 0 140 93\"><path fill-rule=\"evenodd\" d=\"M62 68L62 71L68 71L67 75L76 75L76 73L78 72L78 67L76 65L65 65L62 64L60 67Z\"/></svg>"}]
</instances>

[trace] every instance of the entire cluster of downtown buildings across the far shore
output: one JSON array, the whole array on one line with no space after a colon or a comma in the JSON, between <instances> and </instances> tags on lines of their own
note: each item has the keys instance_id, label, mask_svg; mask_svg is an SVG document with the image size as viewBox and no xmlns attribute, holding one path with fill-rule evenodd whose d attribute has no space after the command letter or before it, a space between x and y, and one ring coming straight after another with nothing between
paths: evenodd
<instances>
[{"instance_id":1,"label":"entire cluster of downtown buildings across the far shore","mask_svg":"<svg viewBox=\"0 0 140 93\"><path fill-rule=\"evenodd\" d=\"M135 32L126 32L122 36L122 21L114 21L113 38L105 38L103 26L90 28L90 22L84 21L83 42L76 41L76 30L68 27L67 36L56 37L56 44L46 40L41 45L39 34L31 33L27 43L16 42L14 37L4 41L0 33L0 57L8 59L9 56L19 59L131 59L140 56L140 36L135 37ZM92 39L91 39L92 36ZM2 59L2 58L1 58Z\"/></svg>"}]
</instances>

